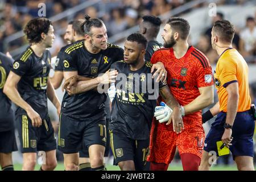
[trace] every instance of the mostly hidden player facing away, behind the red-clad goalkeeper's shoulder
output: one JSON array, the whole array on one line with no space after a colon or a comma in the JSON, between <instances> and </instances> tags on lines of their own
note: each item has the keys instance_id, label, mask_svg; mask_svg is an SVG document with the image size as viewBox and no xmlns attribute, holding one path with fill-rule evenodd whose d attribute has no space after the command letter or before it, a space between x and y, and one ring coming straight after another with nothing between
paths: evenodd
<instances>
[{"instance_id":1,"label":"mostly hidden player facing away, behind the red-clad goalkeeper's shoulder","mask_svg":"<svg viewBox=\"0 0 256 182\"><path fill-rule=\"evenodd\" d=\"M160 18L145 15L142 17L141 24L139 24L139 32L147 39L147 49L144 56L146 61L150 61L153 53L163 47L163 44L156 41L161 23Z\"/></svg>"}]
</instances>

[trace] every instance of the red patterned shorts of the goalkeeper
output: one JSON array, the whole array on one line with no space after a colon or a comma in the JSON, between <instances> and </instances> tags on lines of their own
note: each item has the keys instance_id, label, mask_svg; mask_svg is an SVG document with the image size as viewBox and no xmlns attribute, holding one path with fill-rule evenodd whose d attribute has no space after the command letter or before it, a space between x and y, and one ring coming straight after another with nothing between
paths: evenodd
<instances>
[{"instance_id":1,"label":"red patterned shorts of the goalkeeper","mask_svg":"<svg viewBox=\"0 0 256 182\"><path fill-rule=\"evenodd\" d=\"M204 148L204 129L200 120L183 118L185 129L176 134L172 124L152 122L150 133L150 154L147 161L156 163L171 163L174 159L176 147L179 154L189 153L202 157Z\"/></svg>"}]
</instances>

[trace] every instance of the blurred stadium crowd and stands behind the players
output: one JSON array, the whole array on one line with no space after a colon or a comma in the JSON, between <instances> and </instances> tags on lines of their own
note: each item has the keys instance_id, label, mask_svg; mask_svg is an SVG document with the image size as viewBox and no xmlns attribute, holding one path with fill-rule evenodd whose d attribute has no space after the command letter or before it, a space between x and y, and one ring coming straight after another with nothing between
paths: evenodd
<instances>
[{"instance_id":1,"label":"blurred stadium crowd and stands behind the players","mask_svg":"<svg viewBox=\"0 0 256 182\"><path fill-rule=\"evenodd\" d=\"M43 3L43 4L42 4ZM45 7L45 11L42 11ZM233 47L238 49L249 65L249 82L251 100L255 104L256 95L256 0L220 0L220 1L189 1L189 0L55 0L55 1L0 1L0 52L10 52L15 59L28 46L23 28L26 23L40 13L49 18L55 28L55 42L50 48L54 65L54 57L60 48L67 42L64 40L65 29L68 22L84 18L89 14L92 18L101 18L107 27L110 43L123 47L128 35L139 30L139 23L143 15L159 16L163 20L158 35L158 42L163 43L161 32L168 18L181 16L191 25L189 44L200 49L208 57L213 71L218 55L210 44L210 31L212 24L219 19L228 19L236 28ZM53 66L54 67L54 66ZM51 70L50 75L52 75ZM63 92L56 90L60 101ZM217 102L217 95L215 94ZM206 109L205 109L206 110ZM49 102L49 114L53 125L57 129L58 117L55 107ZM207 134L210 124L204 124ZM17 138L17 142L19 140ZM255 145L256 152L256 145ZM58 151L57 158L61 163L62 154ZM106 158L106 163L112 164L112 156ZM256 160L254 160L256 162ZM14 163L22 163L22 155L14 152ZM39 159L40 163L40 159ZM230 155L221 157L213 169L236 169ZM170 165L171 169L181 170L179 154ZM220 168L218 168L220 167ZM111 168L110 168L111 169ZM118 169L118 168L113 168Z\"/></svg>"}]
</instances>

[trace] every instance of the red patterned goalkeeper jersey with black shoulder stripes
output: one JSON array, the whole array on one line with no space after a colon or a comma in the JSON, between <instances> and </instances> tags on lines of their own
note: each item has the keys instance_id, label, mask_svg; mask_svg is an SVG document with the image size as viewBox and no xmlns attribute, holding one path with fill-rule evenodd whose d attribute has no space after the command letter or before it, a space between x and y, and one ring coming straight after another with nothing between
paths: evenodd
<instances>
[{"instance_id":1,"label":"red patterned goalkeeper jersey with black shoulder stripes","mask_svg":"<svg viewBox=\"0 0 256 182\"><path fill-rule=\"evenodd\" d=\"M152 56L151 63L155 64L159 61L167 70L168 86L180 105L184 106L195 100L200 95L200 87L213 85L209 60L204 53L193 46L190 46L180 59L175 57L172 48L159 49ZM201 121L201 111L185 115L183 120Z\"/></svg>"}]
</instances>

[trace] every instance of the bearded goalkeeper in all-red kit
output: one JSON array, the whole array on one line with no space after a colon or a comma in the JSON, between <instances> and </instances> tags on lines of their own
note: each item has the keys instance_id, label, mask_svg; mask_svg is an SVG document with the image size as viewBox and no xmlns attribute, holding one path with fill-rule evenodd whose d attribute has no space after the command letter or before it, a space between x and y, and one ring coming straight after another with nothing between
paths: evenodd
<instances>
[{"instance_id":1,"label":"bearded goalkeeper in all-red kit","mask_svg":"<svg viewBox=\"0 0 256 182\"><path fill-rule=\"evenodd\" d=\"M184 170L198 170L204 146L201 109L213 103L212 68L207 57L188 45L189 23L183 18L168 19L162 37L164 47L154 53L151 63L161 61L167 69L167 84L184 108L181 133L165 123L151 128L151 170L166 170L179 150ZM164 100L164 98L163 98Z\"/></svg>"}]
</instances>

